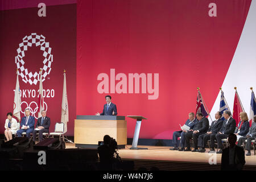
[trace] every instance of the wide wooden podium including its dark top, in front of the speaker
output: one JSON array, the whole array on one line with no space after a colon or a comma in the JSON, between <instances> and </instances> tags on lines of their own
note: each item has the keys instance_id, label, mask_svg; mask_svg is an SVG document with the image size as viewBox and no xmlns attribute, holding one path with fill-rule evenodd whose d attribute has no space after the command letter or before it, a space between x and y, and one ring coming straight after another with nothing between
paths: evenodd
<instances>
[{"instance_id":1,"label":"wide wooden podium including its dark top, in front of the speaker","mask_svg":"<svg viewBox=\"0 0 256 182\"><path fill-rule=\"evenodd\" d=\"M98 142L109 135L117 140L118 148L127 144L127 123L120 115L77 115L74 140L76 147L97 148Z\"/></svg>"}]
</instances>

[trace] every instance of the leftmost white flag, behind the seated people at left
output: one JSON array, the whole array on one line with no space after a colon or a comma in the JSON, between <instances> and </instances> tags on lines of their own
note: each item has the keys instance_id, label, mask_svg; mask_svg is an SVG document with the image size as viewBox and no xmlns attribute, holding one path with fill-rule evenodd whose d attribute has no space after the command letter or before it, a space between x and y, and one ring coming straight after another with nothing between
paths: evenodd
<instances>
[{"instance_id":1,"label":"leftmost white flag, behind the seated people at left","mask_svg":"<svg viewBox=\"0 0 256 182\"><path fill-rule=\"evenodd\" d=\"M17 78L16 78L16 88L15 88L15 94L14 94L14 109L13 109L13 115L18 118L20 121L20 111L21 111L21 98L20 98L20 92L19 92L19 75L18 72L16 72Z\"/></svg>"}]
</instances>

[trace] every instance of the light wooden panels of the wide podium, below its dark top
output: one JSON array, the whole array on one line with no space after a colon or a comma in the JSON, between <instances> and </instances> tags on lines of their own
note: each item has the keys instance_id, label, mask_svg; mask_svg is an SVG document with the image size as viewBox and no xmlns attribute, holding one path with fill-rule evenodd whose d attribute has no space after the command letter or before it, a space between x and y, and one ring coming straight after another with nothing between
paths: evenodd
<instances>
[{"instance_id":1,"label":"light wooden panels of the wide podium, below its dark top","mask_svg":"<svg viewBox=\"0 0 256 182\"><path fill-rule=\"evenodd\" d=\"M98 144L104 135L127 144L127 123L125 120L75 119L74 139L76 144Z\"/></svg>"}]
</instances>

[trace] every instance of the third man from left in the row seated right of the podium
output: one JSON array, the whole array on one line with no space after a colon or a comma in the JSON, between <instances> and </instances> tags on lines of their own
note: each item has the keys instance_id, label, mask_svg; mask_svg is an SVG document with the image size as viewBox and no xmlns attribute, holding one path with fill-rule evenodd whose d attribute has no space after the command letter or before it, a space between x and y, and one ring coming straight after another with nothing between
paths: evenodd
<instances>
[{"instance_id":1,"label":"third man from left in the row seated right of the podium","mask_svg":"<svg viewBox=\"0 0 256 182\"><path fill-rule=\"evenodd\" d=\"M199 152L205 152L205 146L207 144L207 141L210 139L211 140L211 146L214 148L214 139L215 135L217 134L218 131L220 131L223 120L221 119L221 112L217 111L215 114L215 121L212 122L212 125L210 125L210 129L206 134L201 134L199 135L198 143L199 146L201 146ZM213 149L214 150L214 149Z\"/></svg>"}]
</instances>

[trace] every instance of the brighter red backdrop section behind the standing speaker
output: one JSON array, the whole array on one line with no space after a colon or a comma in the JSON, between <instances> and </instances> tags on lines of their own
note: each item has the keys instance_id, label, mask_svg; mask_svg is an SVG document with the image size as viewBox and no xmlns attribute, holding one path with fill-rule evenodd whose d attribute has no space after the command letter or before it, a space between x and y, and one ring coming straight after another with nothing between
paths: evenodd
<instances>
[{"instance_id":1,"label":"brighter red backdrop section behind the standing speaker","mask_svg":"<svg viewBox=\"0 0 256 182\"><path fill-rule=\"evenodd\" d=\"M141 138L171 139L196 109L210 110L237 47L251 1L77 1L77 114L102 111L100 73L159 73L159 97L109 93L119 115L143 115ZM128 79L128 78L127 78ZM110 80L110 78L109 78ZM117 84L119 81L115 81ZM127 85L127 90L128 90ZM109 82L110 92L110 82ZM127 118L127 137L135 121Z\"/></svg>"}]
</instances>

